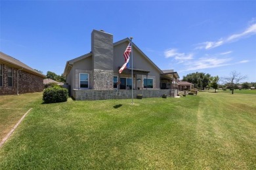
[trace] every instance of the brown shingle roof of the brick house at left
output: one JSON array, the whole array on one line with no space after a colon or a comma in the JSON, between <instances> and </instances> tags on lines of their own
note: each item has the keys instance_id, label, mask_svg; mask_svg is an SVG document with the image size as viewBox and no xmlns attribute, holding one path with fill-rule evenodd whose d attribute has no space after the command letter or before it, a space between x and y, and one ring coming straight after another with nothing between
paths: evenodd
<instances>
[{"instance_id":1,"label":"brown shingle roof of the brick house at left","mask_svg":"<svg viewBox=\"0 0 256 170\"><path fill-rule=\"evenodd\" d=\"M16 58L12 58L11 56L8 56L7 54L0 52L0 61L9 63L11 65L14 65L16 68L21 69L23 68L24 71L28 71L34 75L38 75L38 76L42 76L45 77L45 75L39 73L38 71L35 71L34 69L32 69L32 67L29 67L28 65L22 63L21 61L19 61Z\"/></svg>"}]
</instances>

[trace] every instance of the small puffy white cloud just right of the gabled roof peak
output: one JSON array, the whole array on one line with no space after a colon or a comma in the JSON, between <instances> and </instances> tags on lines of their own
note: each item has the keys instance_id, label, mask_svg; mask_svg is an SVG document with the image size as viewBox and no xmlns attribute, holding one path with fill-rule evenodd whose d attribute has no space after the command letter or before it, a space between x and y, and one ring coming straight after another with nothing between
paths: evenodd
<instances>
[{"instance_id":1,"label":"small puffy white cloud just right of the gabled roof peak","mask_svg":"<svg viewBox=\"0 0 256 170\"><path fill-rule=\"evenodd\" d=\"M193 59L193 54L185 54L178 52L177 49L167 49L164 52L165 58L175 58L179 63L182 63L186 60Z\"/></svg>"}]
</instances>

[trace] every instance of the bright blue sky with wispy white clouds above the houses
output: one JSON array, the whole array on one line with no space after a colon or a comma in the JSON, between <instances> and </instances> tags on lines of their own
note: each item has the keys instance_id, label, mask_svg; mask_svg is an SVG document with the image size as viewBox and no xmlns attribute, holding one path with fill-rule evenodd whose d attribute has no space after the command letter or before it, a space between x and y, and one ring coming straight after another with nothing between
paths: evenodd
<instances>
[{"instance_id":1,"label":"bright blue sky with wispy white clouds above the houses","mask_svg":"<svg viewBox=\"0 0 256 170\"><path fill-rule=\"evenodd\" d=\"M91 51L91 31L133 37L160 69L256 82L256 1L0 1L0 50L64 72ZM123 58L123 56L120 56Z\"/></svg>"}]
</instances>

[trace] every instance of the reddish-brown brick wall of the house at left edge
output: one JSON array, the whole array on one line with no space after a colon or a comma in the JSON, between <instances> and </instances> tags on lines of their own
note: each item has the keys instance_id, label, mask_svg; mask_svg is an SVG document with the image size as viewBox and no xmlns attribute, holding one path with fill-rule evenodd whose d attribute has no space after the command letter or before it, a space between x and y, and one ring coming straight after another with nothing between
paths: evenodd
<instances>
[{"instance_id":1,"label":"reddish-brown brick wall of the house at left edge","mask_svg":"<svg viewBox=\"0 0 256 170\"><path fill-rule=\"evenodd\" d=\"M17 71L12 68L13 84L8 86L8 67L3 65L3 86L0 86L0 95L17 93ZM43 77L32 75L26 71L19 71L18 93L43 92Z\"/></svg>"}]
</instances>

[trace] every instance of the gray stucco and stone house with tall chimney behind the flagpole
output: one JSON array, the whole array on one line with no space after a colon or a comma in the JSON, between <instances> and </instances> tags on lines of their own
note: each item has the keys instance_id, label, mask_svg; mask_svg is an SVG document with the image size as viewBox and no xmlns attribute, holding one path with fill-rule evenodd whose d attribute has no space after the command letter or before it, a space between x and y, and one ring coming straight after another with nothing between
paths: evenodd
<instances>
[{"instance_id":1,"label":"gray stucco and stone house with tall chimney behind the flagpole","mask_svg":"<svg viewBox=\"0 0 256 170\"><path fill-rule=\"evenodd\" d=\"M132 78L135 95L143 93L144 97L157 97L177 89L177 72L162 71L134 43L133 76L131 68L119 74L119 68L124 63L123 52L129 42L127 38L113 43L112 34L93 30L91 52L66 62L64 76L71 86L72 96L78 100L110 99L113 96L130 98ZM174 91L177 93L177 90Z\"/></svg>"}]
</instances>

